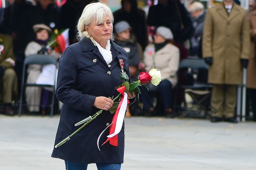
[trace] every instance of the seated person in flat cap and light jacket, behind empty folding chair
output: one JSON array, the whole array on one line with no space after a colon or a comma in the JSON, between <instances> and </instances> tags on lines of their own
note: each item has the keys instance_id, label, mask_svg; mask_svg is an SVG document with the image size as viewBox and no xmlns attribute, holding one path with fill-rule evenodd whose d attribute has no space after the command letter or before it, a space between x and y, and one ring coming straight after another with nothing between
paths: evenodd
<instances>
[{"instance_id":1,"label":"seated person in flat cap and light jacket, behind empty folding chair","mask_svg":"<svg viewBox=\"0 0 256 170\"><path fill-rule=\"evenodd\" d=\"M61 53L56 52L56 50L52 50L51 48L46 48L47 43L49 42L49 37L52 32L51 28L46 26L45 24L36 24L33 26L35 32L35 40L31 41L26 49L25 56L29 56L31 54L51 54L56 57L56 60L60 58ZM36 83L42 71L42 66L37 64L29 65L27 72L27 83ZM43 90L43 92L42 92ZM46 101L48 99L49 91L46 89L42 89L41 87L27 87L26 89L26 101L28 104L29 112L39 112L40 111L40 102L41 102L41 94L44 95L42 101ZM45 103L44 103L45 104ZM44 114L44 109L42 109L42 114Z\"/></svg>"}]
</instances>

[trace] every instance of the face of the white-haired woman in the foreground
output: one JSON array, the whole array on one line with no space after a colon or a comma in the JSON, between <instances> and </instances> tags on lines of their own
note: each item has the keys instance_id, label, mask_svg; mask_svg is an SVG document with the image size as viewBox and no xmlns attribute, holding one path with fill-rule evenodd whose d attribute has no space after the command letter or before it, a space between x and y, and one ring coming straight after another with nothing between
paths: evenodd
<instances>
[{"instance_id":1,"label":"face of the white-haired woman in the foreground","mask_svg":"<svg viewBox=\"0 0 256 170\"><path fill-rule=\"evenodd\" d=\"M91 34L97 43L100 44L102 48L105 48L106 41L112 37L113 24L109 14L103 20L103 23L91 22L89 26L84 26L84 29Z\"/></svg>"}]
</instances>

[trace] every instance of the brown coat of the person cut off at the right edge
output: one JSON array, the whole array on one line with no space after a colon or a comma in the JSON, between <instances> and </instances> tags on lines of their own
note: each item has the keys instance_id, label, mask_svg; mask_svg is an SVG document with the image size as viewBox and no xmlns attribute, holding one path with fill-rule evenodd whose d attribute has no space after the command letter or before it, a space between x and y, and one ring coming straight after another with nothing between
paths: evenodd
<instances>
[{"instance_id":1,"label":"brown coat of the person cut off at the right edge","mask_svg":"<svg viewBox=\"0 0 256 170\"><path fill-rule=\"evenodd\" d=\"M251 33L251 54L247 68L247 87L256 89L256 10L249 13L250 33Z\"/></svg>"}]
</instances>

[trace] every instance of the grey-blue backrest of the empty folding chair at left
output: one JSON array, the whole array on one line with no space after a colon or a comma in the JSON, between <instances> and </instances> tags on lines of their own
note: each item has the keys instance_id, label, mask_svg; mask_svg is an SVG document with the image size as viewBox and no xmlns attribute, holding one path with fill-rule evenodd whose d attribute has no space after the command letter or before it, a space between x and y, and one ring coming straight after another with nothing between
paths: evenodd
<instances>
[{"instance_id":1,"label":"grey-blue backrest of the empty folding chair at left","mask_svg":"<svg viewBox=\"0 0 256 170\"><path fill-rule=\"evenodd\" d=\"M56 58L52 55L44 55L44 54L31 54L25 58L24 65L28 64L54 64L58 67L58 62Z\"/></svg>"}]
</instances>

